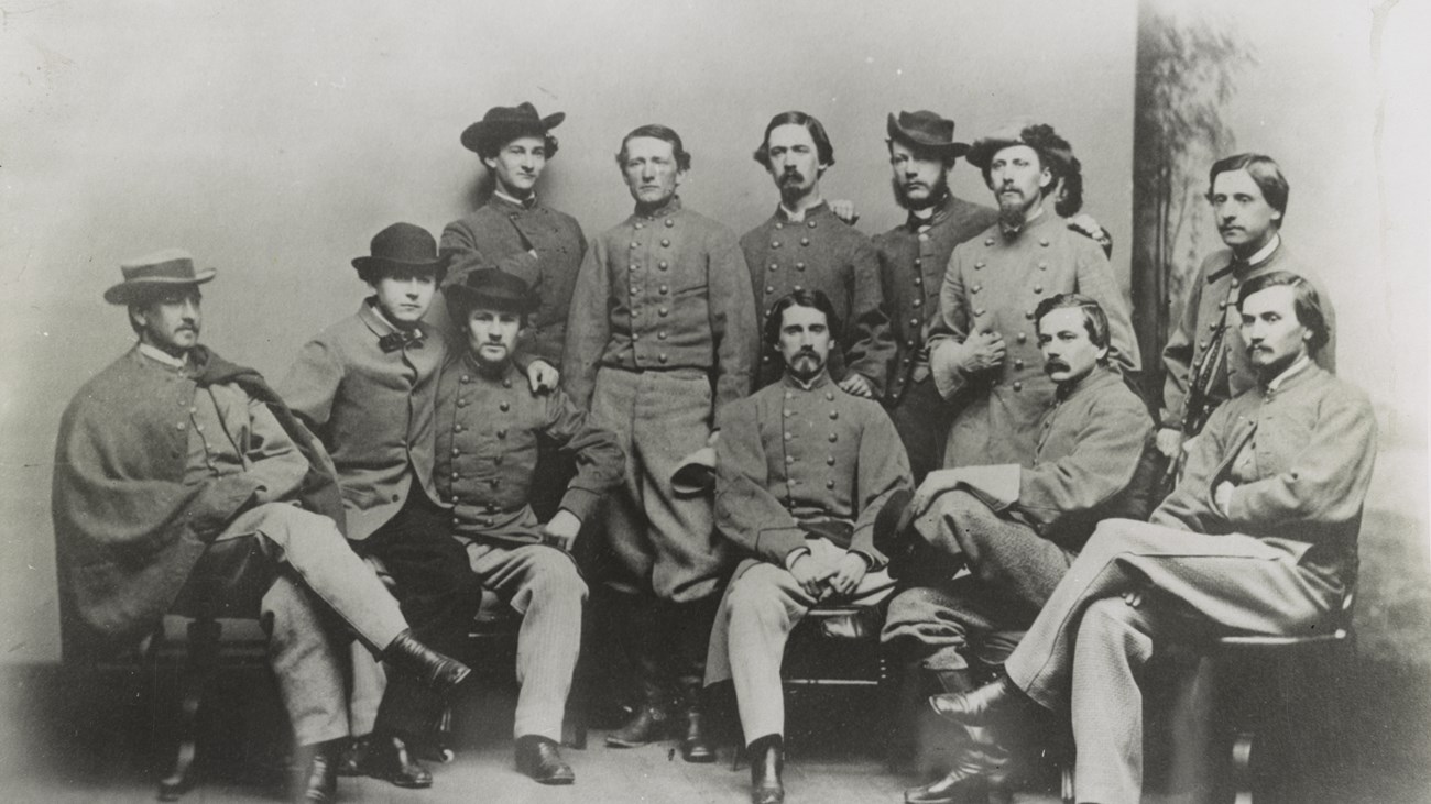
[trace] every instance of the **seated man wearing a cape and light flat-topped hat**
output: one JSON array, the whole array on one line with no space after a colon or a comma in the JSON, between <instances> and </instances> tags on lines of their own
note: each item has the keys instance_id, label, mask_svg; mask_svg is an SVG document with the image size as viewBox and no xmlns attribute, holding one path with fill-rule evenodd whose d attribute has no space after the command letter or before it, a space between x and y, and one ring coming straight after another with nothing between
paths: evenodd
<instances>
[{"instance_id":1,"label":"seated man wearing a cape and light flat-topped hat","mask_svg":"<svg viewBox=\"0 0 1431 804\"><path fill-rule=\"evenodd\" d=\"M139 343L89 381L60 421L53 515L67 641L137 642L170 609L262 615L306 761L301 801L332 801L351 725L332 615L436 692L468 674L414 638L348 546L333 465L252 369L199 345L213 269L170 249L122 266L104 299Z\"/></svg>"}]
</instances>

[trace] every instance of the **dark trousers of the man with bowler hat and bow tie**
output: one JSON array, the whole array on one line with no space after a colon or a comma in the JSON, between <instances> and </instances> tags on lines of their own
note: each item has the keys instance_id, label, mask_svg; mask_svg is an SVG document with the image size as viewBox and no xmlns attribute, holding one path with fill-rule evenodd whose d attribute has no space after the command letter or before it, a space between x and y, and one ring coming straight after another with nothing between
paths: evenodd
<instances>
[{"instance_id":1,"label":"dark trousers of the man with bowler hat and bow tie","mask_svg":"<svg viewBox=\"0 0 1431 804\"><path fill-rule=\"evenodd\" d=\"M434 651L461 655L482 602L482 585L468 568L467 549L449 531L451 515L414 489L402 509L356 546L361 555L382 561L412 635ZM442 707L442 698L415 680L392 675L373 730L428 737Z\"/></svg>"}]
</instances>

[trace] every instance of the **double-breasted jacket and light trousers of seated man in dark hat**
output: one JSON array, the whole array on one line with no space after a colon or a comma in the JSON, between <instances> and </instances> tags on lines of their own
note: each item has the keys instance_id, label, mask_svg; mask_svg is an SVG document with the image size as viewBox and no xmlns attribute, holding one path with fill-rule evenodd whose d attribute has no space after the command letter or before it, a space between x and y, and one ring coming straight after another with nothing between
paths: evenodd
<instances>
[{"instance_id":1,"label":"double-breasted jacket and light trousers of seated man in dark hat","mask_svg":"<svg viewBox=\"0 0 1431 804\"><path fill-rule=\"evenodd\" d=\"M545 438L575 456L561 506L582 521L620 481L621 449L565 393L532 393L511 365L488 375L468 352L444 366L436 422L435 484L451 508L451 532L471 572L522 614L514 735L560 741L587 585L568 555L541 544L529 505L537 443Z\"/></svg>"}]
</instances>

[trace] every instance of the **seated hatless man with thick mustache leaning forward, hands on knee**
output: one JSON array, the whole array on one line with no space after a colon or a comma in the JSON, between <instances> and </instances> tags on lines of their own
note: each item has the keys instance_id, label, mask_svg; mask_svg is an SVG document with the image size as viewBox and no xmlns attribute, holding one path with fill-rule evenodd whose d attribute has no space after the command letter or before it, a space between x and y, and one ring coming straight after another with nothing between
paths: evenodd
<instances>
[{"instance_id":1,"label":"seated hatless man with thick mustache leaning forward, hands on knee","mask_svg":"<svg viewBox=\"0 0 1431 804\"><path fill-rule=\"evenodd\" d=\"M1035 335L1055 403L1037 426L1033 461L937 469L902 521L876 524L874 546L909 587L890 602L881 638L944 692L992 677L1093 525L1122 515L1152 429L1142 399L1108 365L1108 318L1098 302L1078 293L1043 299ZM969 574L954 578L962 568ZM972 731L953 768L904 800L970 800L1015 767L992 734Z\"/></svg>"}]
</instances>

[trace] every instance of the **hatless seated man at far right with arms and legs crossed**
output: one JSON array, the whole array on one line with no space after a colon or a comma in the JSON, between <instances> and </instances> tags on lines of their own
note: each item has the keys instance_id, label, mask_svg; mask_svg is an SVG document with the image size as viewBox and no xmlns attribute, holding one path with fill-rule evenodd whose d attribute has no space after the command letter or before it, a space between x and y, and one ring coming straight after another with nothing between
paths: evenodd
<instances>
[{"instance_id":1,"label":"hatless seated man at far right with arms and legs crossed","mask_svg":"<svg viewBox=\"0 0 1431 804\"><path fill-rule=\"evenodd\" d=\"M1371 403L1317 365L1328 330L1305 278L1255 276L1236 303L1256 383L1213 411L1173 492L1148 522L1098 525L1005 675L930 701L976 727L1029 701L1069 711L1078 801L1141 800L1138 675L1166 642L1331 631L1355 581Z\"/></svg>"}]
</instances>

